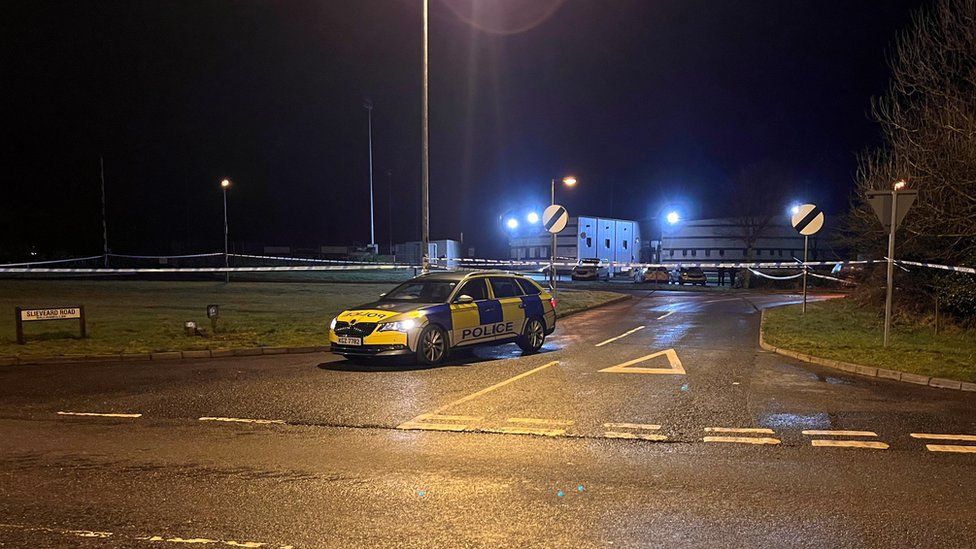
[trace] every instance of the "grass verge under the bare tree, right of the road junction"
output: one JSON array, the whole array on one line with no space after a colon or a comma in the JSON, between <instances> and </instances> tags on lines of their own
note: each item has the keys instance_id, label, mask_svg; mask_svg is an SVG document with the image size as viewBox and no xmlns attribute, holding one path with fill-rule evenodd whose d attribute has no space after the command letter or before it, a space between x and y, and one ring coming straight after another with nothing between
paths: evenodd
<instances>
[{"instance_id":1,"label":"grass verge under the bare tree, right of the road junction","mask_svg":"<svg viewBox=\"0 0 976 549\"><path fill-rule=\"evenodd\" d=\"M850 299L766 311L765 339L770 345L821 358L877 366L913 374L976 381L976 334L948 328L895 325L892 345L882 345L883 311L863 308Z\"/></svg>"}]
</instances>

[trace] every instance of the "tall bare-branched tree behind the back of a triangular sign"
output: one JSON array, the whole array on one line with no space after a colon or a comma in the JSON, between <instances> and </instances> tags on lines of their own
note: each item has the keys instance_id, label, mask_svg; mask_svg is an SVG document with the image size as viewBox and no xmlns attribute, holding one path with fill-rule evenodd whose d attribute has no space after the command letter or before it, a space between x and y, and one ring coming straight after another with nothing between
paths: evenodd
<instances>
[{"instance_id":1,"label":"tall bare-branched tree behind the back of a triangular sign","mask_svg":"<svg viewBox=\"0 0 976 549\"><path fill-rule=\"evenodd\" d=\"M864 202L906 179L918 190L899 253L958 263L976 257L976 0L938 0L912 18L889 57L888 92L872 100L884 145L859 157L848 236L880 252L883 230Z\"/></svg>"}]
</instances>

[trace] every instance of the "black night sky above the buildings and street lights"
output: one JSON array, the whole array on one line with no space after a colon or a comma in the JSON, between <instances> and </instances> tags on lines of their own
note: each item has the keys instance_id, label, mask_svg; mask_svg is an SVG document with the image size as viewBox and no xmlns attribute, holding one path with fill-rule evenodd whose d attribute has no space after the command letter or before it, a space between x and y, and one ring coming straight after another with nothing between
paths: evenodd
<instances>
[{"instance_id":1,"label":"black night sky above the buildings and street lights","mask_svg":"<svg viewBox=\"0 0 976 549\"><path fill-rule=\"evenodd\" d=\"M574 214L722 215L754 165L842 212L920 3L431 0L431 237L498 253L499 215L567 173ZM100 253L100 155L118 253L219 249L224 177L235 242L368 242L364 97L377 240L388 182L395 240L418 238L420 6L8 3L0 256Z\"/></svg>"}]
</instances>

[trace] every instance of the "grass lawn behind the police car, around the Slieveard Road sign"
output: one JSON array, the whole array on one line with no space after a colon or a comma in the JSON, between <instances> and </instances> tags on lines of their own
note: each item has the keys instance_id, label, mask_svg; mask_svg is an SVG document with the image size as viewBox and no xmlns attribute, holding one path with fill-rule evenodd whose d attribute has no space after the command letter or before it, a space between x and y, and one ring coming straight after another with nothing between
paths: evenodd
<instances>
[{"instance_id":1,"label":"grass lawn behind the police car, around the Slieveard Road sign","mask_svg":"<svg viewBox=\"0 0 976 549\"><path fill-rule=\"evenodd\" d=\"M394 284L44 281L0 282L0 356L94 355L327 344L328 322L342 309L374 301ZM559 295L559 313L605 303L611 292ZM206 307L220 305L211 333ZM88 337L77 321L28 322L26 345L14 336L14 307L84 305ZM193 320L206 336L186 336Z\"/></svg>"}]
</instances>

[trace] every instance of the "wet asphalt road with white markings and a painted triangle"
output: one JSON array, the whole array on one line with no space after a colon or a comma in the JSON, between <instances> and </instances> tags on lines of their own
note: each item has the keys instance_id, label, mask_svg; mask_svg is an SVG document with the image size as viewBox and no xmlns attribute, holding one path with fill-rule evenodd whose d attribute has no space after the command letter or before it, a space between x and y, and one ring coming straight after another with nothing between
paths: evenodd
<instances>
[{"instance_id":1,"label":"wet asphalt road with white markings and a painted triangle","mask_svg":"<svg viewBox=\"0 0 976 549\"><path fill-rule=\"evenodd\" d=\"M976 544L976 437L911 436L976 394L760 350L795 296L633 294L439 368L0 368L0 546Z\"/></svg>"}]
</instances>

